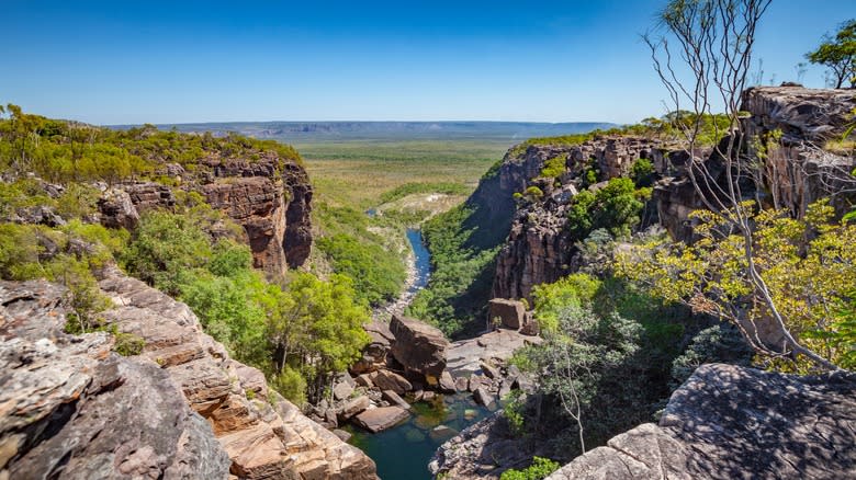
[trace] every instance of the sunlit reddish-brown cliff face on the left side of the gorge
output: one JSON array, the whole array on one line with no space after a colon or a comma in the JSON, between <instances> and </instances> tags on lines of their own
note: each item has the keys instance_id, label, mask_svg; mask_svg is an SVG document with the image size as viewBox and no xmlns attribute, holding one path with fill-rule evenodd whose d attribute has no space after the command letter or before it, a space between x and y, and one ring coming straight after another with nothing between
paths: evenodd
<instances>
[{"instance_id":1,"label":"sunlit reddish-brown cliff face on the left side of the gorge","mask_svg":"<svg viewBox=\"0 0 856 480\"><path fill-rule=\"evenodd\" d=\"M293 160L273 152L259 155L252 161L214 156L194 172L170 164L164 173L179 181L182 190L202 193L213 208L244 227L255 267L283 274L303 265L312 250L312 185ZM99 207L104 225L133 228L139 214L174 205L168 186L146 182L120 185Z\"/></svg>"}]
</instances>

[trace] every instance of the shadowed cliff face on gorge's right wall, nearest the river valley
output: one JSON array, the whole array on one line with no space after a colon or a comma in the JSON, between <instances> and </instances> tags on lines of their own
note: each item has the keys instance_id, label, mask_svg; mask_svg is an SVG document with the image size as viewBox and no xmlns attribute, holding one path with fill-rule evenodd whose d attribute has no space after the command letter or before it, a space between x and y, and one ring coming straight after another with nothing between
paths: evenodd
<instances>
[{"instance_id":1,"label":"shadowed cliff face on gorge's right wall, nearest the river valley","mask_svg":"<svg viewBox=\"0 0 856 480\"><path fill-rule=\"evenodd\" d=\"M544 163L562 158L565 172L556 179L541 179ZM599 137L576 146L530 146L522 155L506 156L499 169L500 184L511 193L538 186L543 197L523 202L514 213L508 240L497 256L492 295L530 298L532 287L555 282L573 268L574 239L565 228L571 199L579 179L597 167L604 180L626 174L639 158L655 165L666 160L658 144L638 137ZM508 165L506 168L506 165Z\"/></svg>"}]
</instances>

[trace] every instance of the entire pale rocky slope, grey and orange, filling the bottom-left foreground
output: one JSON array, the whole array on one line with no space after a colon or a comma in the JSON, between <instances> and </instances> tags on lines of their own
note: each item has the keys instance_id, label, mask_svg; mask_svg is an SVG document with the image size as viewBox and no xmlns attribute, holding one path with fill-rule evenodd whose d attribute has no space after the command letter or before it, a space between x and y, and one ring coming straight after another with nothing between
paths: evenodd
<instances>
[{"instance_id":1,"label":"entire pale rocky slope, grey and orange, filling the bottom-left foreground","mask_svg":"<svg viewBox=\"0 0 856 480\"><path fill-rule=\"evenodd\" d=\"M184 304L113 267L99 286L114 305L105 321L143 339L142 354L111 354L104 333L63 333L60 287L0 285L8 478L376 478L370 458L232 359Z\"/></svg>"}]
</instances>

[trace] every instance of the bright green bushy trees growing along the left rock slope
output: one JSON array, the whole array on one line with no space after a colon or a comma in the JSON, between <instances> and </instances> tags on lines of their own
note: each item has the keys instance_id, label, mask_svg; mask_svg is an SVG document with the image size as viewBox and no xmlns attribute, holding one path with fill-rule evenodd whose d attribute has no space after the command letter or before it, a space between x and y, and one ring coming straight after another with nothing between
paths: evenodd
<instances>
[{"instance_id":1,"label":"bright green bushy trees growing along the left rock slope","mask_svg":"<svg viewBox=\"0 0 856 480\"><path fill-rule=\"evenodd\" d=\"M204 218L144 216L122 255L128 272L187 302L207 333L264 372L286 398L317 400L327 378L369 341L362 330L369 311L351 281L294 273L282 286L269 283L251 268L249 248L213 242L201 227Z\"/></svg>"}]
</instances>

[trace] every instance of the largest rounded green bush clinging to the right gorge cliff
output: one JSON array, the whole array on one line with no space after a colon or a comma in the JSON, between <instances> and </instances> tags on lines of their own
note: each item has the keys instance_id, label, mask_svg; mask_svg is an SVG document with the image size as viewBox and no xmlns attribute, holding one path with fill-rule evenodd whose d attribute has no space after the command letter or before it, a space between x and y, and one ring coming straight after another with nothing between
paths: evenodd
<instances>
[{"instance_id":1,"label":"largest rounded green bush clinging to the right gorge cliff","mask_svg":"<svg viewBox=\"0 0 856 480\"><path fill-rule=\"evenodd\" d=\"M639 224L644 206L642 201L650 194L649 188L637 190L633 181L626 178L611 179L594 193L584 190L573 198L567 213L567 228L578 239L600 228L616 237L627 236Z\"/></svg>"}]
</instances>

